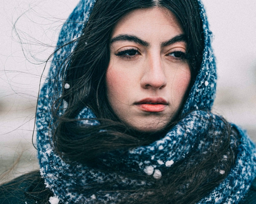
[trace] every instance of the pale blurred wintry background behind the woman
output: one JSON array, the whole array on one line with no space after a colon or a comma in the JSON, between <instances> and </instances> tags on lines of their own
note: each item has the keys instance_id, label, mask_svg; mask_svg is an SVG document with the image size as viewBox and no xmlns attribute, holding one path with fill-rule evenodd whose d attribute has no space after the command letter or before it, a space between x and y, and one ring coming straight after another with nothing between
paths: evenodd
<instances>
[{"instance_id":1,"label":"pale blurred wintry background behind the woman","mask_svg":"<svg viewBox=\"0 0 256 204\"><path fill-rule=\"evenodd\" d=\"M0 1L0 183L39 169L32 132L40 76L78 1ZM219 77L213 112L256 142L256 1L203 3Z\"/></svg>"}]
</instances>

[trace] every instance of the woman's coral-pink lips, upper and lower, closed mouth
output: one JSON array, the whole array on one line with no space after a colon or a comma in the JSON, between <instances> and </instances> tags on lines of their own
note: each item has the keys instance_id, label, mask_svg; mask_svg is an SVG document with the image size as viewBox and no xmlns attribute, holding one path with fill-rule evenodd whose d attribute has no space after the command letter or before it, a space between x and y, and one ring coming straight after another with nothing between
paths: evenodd
<instances>
[{"instance_id":1,"label":"woman's coral-pink lips, upper and lower, closed mouth","mask_svg":"<svg viewBox=\"0 0 256 204\"><path fill-rule=\"evenodd\" d=\"M167 101L163 98L145 98L141 101L135 102L134 104L137 105L140 109L142 109L142 111L146 112L162 112L168 105Z\"/></svg>"}]
</instances>

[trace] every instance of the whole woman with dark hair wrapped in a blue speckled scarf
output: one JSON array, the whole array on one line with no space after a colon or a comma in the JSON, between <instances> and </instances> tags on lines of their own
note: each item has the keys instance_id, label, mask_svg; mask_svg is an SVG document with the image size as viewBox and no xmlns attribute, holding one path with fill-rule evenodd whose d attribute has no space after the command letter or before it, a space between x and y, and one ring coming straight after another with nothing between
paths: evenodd
<instances>
[{"instance_id":1,"label":"whole woman with dark hair wrapped in a blue speckled scarf","mask_svg":"<svg viewBox=\"0 0 256 204\"><path fill-rule=\"evenodd\" d=\"M246 202L255 146L210 113L210 37L197 0L82 0L63 26L40 92L42 178L35 172L4 185L5 198Z\"/></svg>"}]
</instances>

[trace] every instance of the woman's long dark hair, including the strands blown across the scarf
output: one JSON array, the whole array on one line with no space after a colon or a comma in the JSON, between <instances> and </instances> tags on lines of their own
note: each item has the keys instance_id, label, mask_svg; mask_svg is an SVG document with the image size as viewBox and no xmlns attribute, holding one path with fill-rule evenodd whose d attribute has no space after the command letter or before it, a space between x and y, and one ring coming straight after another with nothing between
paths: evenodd
<instances>
[{"instance_id":1,"label":"woman's long dark hair, including the strands blown across the scarf","mask_svg":"<svg viewBox=\"0 0 256 204\"><path fill-rule=\"evenodd\" d=\"M178 115L162 131L145 134L119 120L109 105L106 94L105 73L110 59L109 42L115 24L135 9L155 6L170 10L186 35L191 69L190 88L193 85L201 66L204 48L203 26L197 0L97 0L81 37L76 40L75 50L62 63L65 69L59 67L55 80L56 83L61 80L63 87L62 95L52 105L53 146L67 162L78 161L103 171L114 171L106 169L103 164L101 166L97 158L104 152L115 149L128 151L150 144L163 137L167 129L181 118ZM66 83L70 85L69 89L64 88ZM68 102L68 107L59 116L59 112L63 112L60 107L64 101ZM78 123L76 116L85 106L95 113L100 125L82 126ZM221 131L214 130L212 126L206 133L205 141L214 144L207 147L207 153L195 152L188 155L187 159L177 162L171 171L154 183L153 188L151 186L151 189L144 187L136 190L139 193L144 192L144 196L138 198L139 200L134 197L132 203L195 203L216 187L225 178L225 175L215 172L222 165L220 161L223 155L227 155L227 160L221 166L222 170L228 172L234 161L235 148L230 146L230 135L234 136L235 131L224 119L223 123L225 125ZM101 131L102 129L105 131ZM210 174L213 175L211 179ZM115 182L111 185L114 184Z\"/></svg>"}]
</instances>

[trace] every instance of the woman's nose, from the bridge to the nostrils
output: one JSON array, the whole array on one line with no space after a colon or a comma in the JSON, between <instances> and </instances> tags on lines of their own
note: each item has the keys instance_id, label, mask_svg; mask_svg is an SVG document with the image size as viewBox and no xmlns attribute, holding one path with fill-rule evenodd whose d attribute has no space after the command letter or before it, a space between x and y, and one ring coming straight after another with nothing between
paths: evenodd
<instances>
[{"instance_id":1,"label":"woman's nose, from the bridge to the nostrils","mask_svg":"<svg viewBox=\"0 0 256 204\"><path fill-rule=\"evenodd\" d=\"M163 63L158 53L149 55L144 65L141 87L146 89L163 89L167 85Z\"/></svg>"}]
</instances>

